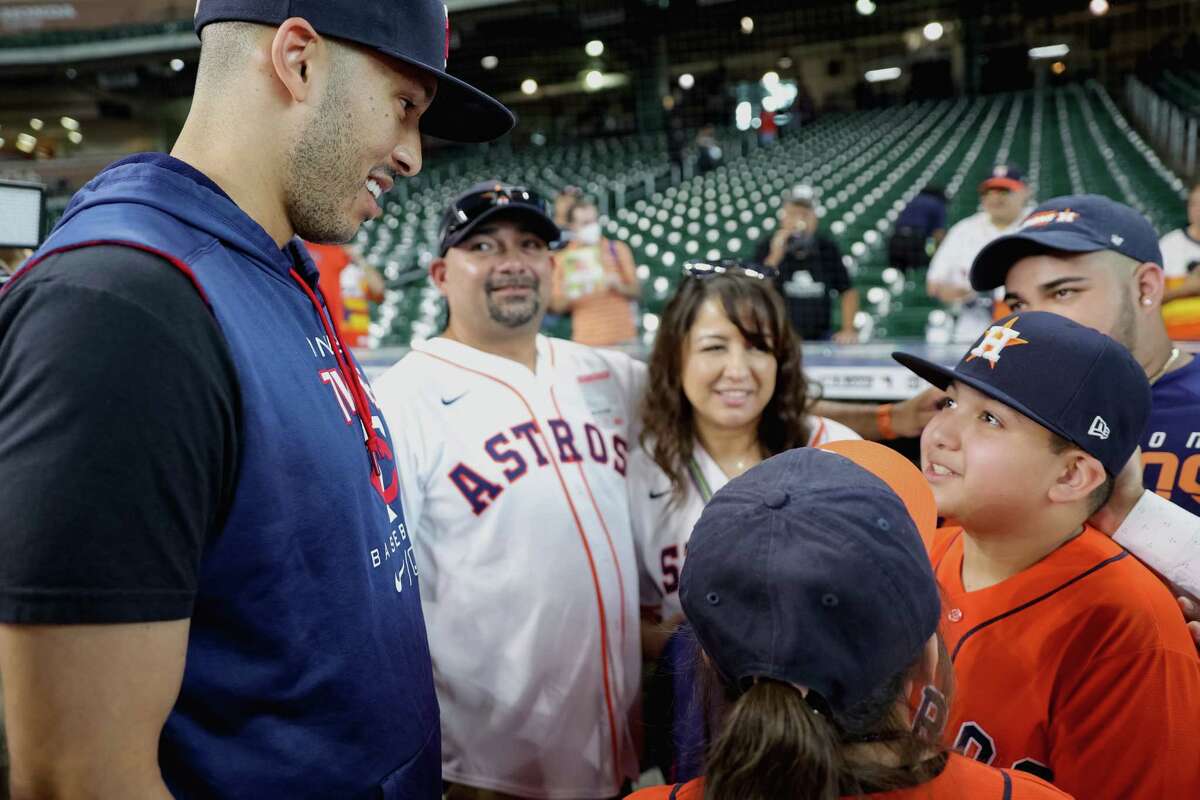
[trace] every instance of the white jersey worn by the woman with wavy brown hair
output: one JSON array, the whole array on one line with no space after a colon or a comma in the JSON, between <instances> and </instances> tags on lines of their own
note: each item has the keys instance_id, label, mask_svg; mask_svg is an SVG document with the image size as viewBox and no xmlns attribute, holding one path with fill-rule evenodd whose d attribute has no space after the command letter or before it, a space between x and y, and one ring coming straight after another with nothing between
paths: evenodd
<instances>
[{"instance_id":1,"label":"white jersey worn by the woman with wavy brown hair","mask_svg":"<svg viewBox=\"0 0 1200 800\"><path fill-rule=\"evenodd\" d=\"M862 438L841 422L823 416L810 416L809 420L814 427L809 446ZM654 608L662 619L670 620L683 614L679 575L691 529L696 527L708 498L730 479L697 441L692 451L695 471L689 468L684 483L686 493L682 500L673 500L671 480L650 458L653 443L648 444L646 450L634 452L629 465L629 506L634 546L637 548L638 595L643 607Z\"/></svg>"}]
</instances>

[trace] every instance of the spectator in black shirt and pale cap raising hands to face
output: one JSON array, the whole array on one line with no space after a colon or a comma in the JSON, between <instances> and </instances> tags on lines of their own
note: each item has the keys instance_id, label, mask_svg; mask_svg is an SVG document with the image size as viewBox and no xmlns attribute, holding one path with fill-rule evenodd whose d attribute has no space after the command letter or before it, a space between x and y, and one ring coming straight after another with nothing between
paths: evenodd
<instances>
[{"instance_id":1,"label":"spectator in black shirt and pale cap raising hands to face","mask_svg":"<svg viewBox=\"0 0 1200 800\"><path fill-rule=\"evenodd\" d=\"M779 227L763 237L755 252L758 264L779 271L779 288L787 300L792 326L805 341L824 341L830 335L842 344L858 341L854 314L858 289L833 239L817 229L816 199L809 186L784 193ZM833 330L833 299L841 303L841 326Z\"/></svg>"}]
</instances>

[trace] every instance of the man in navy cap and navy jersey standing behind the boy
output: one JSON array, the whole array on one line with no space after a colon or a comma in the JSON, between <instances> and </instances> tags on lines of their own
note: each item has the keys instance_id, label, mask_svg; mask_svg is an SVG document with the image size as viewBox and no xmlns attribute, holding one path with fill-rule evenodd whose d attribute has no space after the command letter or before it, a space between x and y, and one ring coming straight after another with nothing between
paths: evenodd
<instances>
[{"instance_id":1,"label":"man in navy cap and navy jersey standing behind the boy","mask_svg":"<svg viewBox=\"0 0 1200 800\"><path fill-rule=\"evenodd\" d=\"M1195 587L1198 517L1182 515L1170 525L1150 522L1158 513L1151 492L1200 515L1200 360L1166 335L1162 263L1153 227L1129 206L1096 194L1058 197L1034 209L1019 230L984 247L971 266L971 284L979 291L1003 287L1014 312L1050 311L1104 331L1141 363L1152 402L1141 440L1150 492L1140 500L1129 495L1138 505L1117 541L1176 584ZM1097 423L1091 435L1104 437L1105 426ZM1200 643L1200 604L1181 604Z\"/></svg>"}]
</instances>

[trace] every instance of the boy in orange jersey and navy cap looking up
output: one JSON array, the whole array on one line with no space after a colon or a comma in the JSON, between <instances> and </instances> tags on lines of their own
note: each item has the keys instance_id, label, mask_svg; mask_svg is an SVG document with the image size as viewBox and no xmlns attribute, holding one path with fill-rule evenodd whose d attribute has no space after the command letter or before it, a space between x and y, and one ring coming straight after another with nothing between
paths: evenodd
<instances>
[{"instance_id":1,"label":"boy in orange jersey and navy cap looking up","mask_svg":"<svg viewBox=\"0 0 1200 800\"><path fill-rule=\"evenodd\" d=\"M958 678L947 728L980 762L1088 800L1200 798L1200 660L1168 589L1086 519L1150 413L1114 339L1013 314L954 369L922 469L954 528L931 546Z\"/></svg>"}]
</instances>

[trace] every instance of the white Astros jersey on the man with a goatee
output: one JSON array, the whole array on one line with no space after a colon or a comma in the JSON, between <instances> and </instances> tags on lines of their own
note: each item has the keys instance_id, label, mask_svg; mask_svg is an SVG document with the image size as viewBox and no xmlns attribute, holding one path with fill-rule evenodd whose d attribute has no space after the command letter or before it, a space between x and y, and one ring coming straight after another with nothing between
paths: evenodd
<instances>
[{"instance_id":1,"label":"white Astros jersey on the man with a goatee","mask_svg":"<svg viewBox=\"0 0 1200 800\"><path fill-rule=\"evenodd\" d=\"M445 338L376 381L442 705L445 780L616 796L637 759L625 487L646 366L538 337L538 368Z\"/></svg>"}]
</instances>

